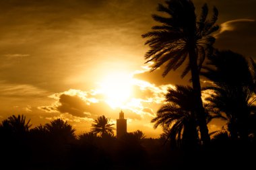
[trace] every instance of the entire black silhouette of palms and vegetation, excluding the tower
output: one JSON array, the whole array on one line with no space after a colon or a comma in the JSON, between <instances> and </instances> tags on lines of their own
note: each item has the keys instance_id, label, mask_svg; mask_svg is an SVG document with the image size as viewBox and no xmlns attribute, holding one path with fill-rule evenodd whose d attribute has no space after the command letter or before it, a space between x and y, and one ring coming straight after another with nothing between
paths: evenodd
<instances>
[{"instance_id":1,"label":"entire black silhouette of palms and vegetation, excluding the tower","mask_svg":"<svg viewBox=\"0 0 256 170\"><path fill-rule=\"evenodd\" d=\"M0 126L1 165L17 169L174 169L255 167L256 63L253 58L213 47L218 19L214 7L197 17L189 0L159 4L158 22L148 38L146 62L152 71L164 66L165 77L187 62L191 87L168 89L166 101L152 119L160 138L140 130L117 139L109 118L99 116L88 133L75 136L61 119L31 128L24 116L11 116ZM203 79L202 79L203 77ZM201 87L201 82L205 81ZM222 129L209 133L212 120Z\"/></svg>"}]
</instances>

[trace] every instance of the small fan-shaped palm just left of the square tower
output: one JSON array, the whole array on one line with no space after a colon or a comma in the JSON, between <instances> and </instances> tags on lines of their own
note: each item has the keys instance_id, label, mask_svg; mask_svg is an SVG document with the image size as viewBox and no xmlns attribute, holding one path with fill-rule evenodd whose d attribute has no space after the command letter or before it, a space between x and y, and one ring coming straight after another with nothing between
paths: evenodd
<instances>
[{"instance_id":1,"label":"small fan-shaped palm just left of the square tower","mask_svg":"<svg viewBox=\"0 0 256 170\"><path fill-rule=\"evenodd\" d=\"M100 134L100 136L113 135L115 128L111 127L114 124L109 124L110 118L103 116L98 116L94 123L92 124L91 132L94 134Z\"/></svg>"}]
</instances>

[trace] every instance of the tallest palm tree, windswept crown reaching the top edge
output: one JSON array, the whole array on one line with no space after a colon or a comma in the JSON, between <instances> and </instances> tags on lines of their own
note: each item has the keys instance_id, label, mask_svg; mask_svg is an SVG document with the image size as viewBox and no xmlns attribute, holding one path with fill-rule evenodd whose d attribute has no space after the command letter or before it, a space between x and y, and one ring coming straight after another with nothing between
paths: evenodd
<instances>
[{"instance_id":1,"label":"tallest palm tree, windswept crown reaching the top edge","mask_svg":"<svg viewBox=\"0 0 256 170\"><path fill-rule=\"evenodd\" d=\"M181 77L185 77L191 71L201 139L204 144L208 144L210 136L201 100L199 70L205 56L212 53L212 44L215 41L212 34L219 28L215 25L218 10L214 7L212 19L207 19L208 7L205 4L197 19L195 7L190 0L170 0L166 1L166 5L167 7L158 4L158 11L166 13L168 17L152 15L153 19L162 25L154 26L151 32L142 35L143 38L149 38L145 43L150 46L145 56L146 62L154 60L152 71L167 62L162 73L165 77L171 70L175 71L183 65L187 58L189 59Z\"/></svg>"}]
</instances>

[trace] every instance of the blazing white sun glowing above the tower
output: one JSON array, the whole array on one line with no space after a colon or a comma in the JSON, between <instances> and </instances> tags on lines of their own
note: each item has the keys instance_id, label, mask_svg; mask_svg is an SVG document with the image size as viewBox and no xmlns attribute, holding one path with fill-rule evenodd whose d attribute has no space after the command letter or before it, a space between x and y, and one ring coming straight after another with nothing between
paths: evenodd
<instances>
[{"instance_id":1,"label":"blazing white sun glowing above the tower","mask_svg":"<svg viewBox=\"0 0 256 170\"><path fill-rule=\"evenodd\" d=\"M100 91L111 108L123 108L132 95L133 77L127 73L110 73L100 82Z\"/></svg>"}]
</instances>

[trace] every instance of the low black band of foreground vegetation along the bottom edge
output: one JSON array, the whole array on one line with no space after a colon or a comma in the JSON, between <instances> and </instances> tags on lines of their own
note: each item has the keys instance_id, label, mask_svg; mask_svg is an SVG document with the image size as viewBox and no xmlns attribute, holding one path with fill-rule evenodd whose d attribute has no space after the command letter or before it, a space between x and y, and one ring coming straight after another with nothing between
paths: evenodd
<instances>
[{"instance_id":1,"label":"low black band of foreground vegetation along the bottom edge","mask_svg":"<svg viewBox=\"0 0 256 170\"><path fill-rule=\"evenodd\" d=\"M160 138L145 138L139 130L121 139L109 132L75 136L60 119L30 129L24 116L11 116L3 120L0 135L3 169L203 169L246 167L255 161L253 138L245 143L227 133L214 136L209 148L183 147L164 133Z\"/></svg>"}]
</instances>

